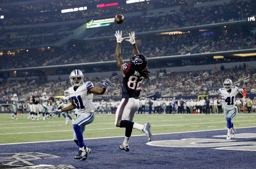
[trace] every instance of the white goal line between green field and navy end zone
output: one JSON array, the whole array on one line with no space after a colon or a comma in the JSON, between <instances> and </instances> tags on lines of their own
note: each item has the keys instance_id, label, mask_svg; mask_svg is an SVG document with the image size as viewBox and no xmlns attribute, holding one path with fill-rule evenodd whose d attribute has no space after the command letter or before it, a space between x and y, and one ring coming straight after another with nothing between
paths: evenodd
<instances>
[{"instance_id":1,"label":"white goal line between green field and navy end zone","mask_svg":"<svg viewBox=\"0 0 256 169\"><path fill-rule=\"evenodd\" d=\"M252 127L239 127L239 128L254 128L256 126L252 126ZM239 129L237 128L237 129ZM199 130L199 131L183 131L183 132L169 132L169 133L159 133L159 134L153 134L153 135L164 135L164 134L178 134L178 133L187 133L187 132L202 132L202 131L216 131L216 130L227 130L226 128L223 129L214 129L214 130ZM132 137L135 136L145 136L143 135L133 135ZM105 138L120 138L120 137L124 137L124 136L114 136L114 137L98 137L98 138L86 138L84 140L93 140L93 139L105 139ZM23 143L6 143L6 144L0 144L1 145L16 145L16 144L28 144L28 143L46 143L46 142L57 142L57 141L73 141L72 140L53 140L53 141L36 141L36 142L23 142Z\"/></svg>"}]
</instances>

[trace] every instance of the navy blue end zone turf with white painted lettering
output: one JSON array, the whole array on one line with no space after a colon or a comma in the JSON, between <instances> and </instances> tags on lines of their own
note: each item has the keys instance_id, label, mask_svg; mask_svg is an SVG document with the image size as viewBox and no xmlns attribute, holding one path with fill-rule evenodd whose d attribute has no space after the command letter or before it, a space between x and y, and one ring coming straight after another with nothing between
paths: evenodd
<instances>
[{"instance_id":1,"label":"navy blue end zone turf with white painted lettering","mask_svg":"<svg viewBox=\"0 0 256 169\"><path fill-rule=\"evenodd\" d=\"M123 142L122 137L88 139L86 144L93 153L90 154L86 161L73 159L74 154L78 151L78 146L73 141L0 145L0 168L24 168L24 166L27 166L27 169L29 166L35 167L35 165L39 165L38 168L40 169L255 169L256 127L237 129L237 137L251 136L251 138L235 137L231 141L226 141L225 137L213 137L226 135L226 131L214 130L153 135L153 142L147 142L145 135L132 137L129 142L131 151L128 153L118 149L118 145ZM253 134L240 135L241 133ZM188 138L194 138L193 142L198 142L196 143L197 147L189 147L188 144L186 144L187 147L180 147L182 146L180 144L181 141L176 141ZM220 142L216 142L216 139L219 139ZM162 140L174 141L155 142ZM206 141L202 142L202 140ZM173 142L176 143L174 144ZM238 145L226 146L227 142ZM157 144L167 147L156 146ZM219 146L208 146L212 144ZM192 143L192 146L195 146L195 144ZM235 147L235 149L241 147L244 150L223 150L223 147Z\"/></svg>"}]
</instances>

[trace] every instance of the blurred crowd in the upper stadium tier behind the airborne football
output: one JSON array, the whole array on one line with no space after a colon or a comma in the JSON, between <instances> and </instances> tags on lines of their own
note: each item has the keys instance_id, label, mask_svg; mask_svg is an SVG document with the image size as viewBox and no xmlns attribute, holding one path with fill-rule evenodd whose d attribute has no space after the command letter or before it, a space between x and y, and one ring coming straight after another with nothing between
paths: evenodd
<instances>
[{"instance_id":1,"label":"blurred crowd in the upper stadium tier behind the airborne football","mask_svg":"<svg viewBox=\"0 0 256 169\"><path fill-rule=\"evenodd\" d=\"M56 3L59 3L59 2L56 2ZM82 4L83 3L84 2L82 2ZM164 14L164 15L157 15L157 16L153 15L151 17L150 16L126 17L125 16L125 22L123 24L112 23L108 27L99 28L98 31L96 31L97 28L94 28L95 33L92 33L89 37L113 36L114 30L123 30L123 32L125 33L128 33L129 31L135 31L136 33L138 33L138 32L147 32L147 31L153 31L153 30L165 30L169 28L228 22L233 20L243 20L243 19L246 19L246 17L248 16L256 14L256 8L254 8L253 6L254 6L253 0L249 0L249 1L247 0L233 1L232 0L228 4L192 8L192 9L188 9L186 12L178 12L174 14ZM133 9L132 7L130 7L131 9L129 9L129 12L132 12L132 9ZM10 9L10 11L12 11L12 8ZM101 12L102 11L111 12L111 10L109 11L108 9L101 10ZM99 15L95 11L91 13L94 15ZM86 20L81 21L81 19L83 19L86 16L90 16L90 14L88 14L87 12L79 11L79 12L74 12L72 14L71 13L61 14L61 15L59 14L59 15L53 15L53 16L35 15L27 18L16 17L16 18L10 18L10 19L8 18L1 19L0 25L2 27L0 27L0 31L1 31L0 38L2 39L3 43L0 44L0 48L53 44L63 39L67 35L71 34L71 31L81 26L82 23L85 23ZM51 24L49 24L47 26L43 25L39 27L33 27L33 23L45 23L45 22L57 23L57 22L62 22L66 20L77 20L77 23L76 22L62 23L62 24L60 23L57 26L56 25L51 26ZM88 21L89 19L87 20L87 22ZM24 28L9 27L8 28L4 26L9 24L11 25L31 24L31 27L24 27ZM67 31L67 32L64 32L64 31ZM49 35L48 33L51 33L51 35ZM31 36L34 34L41 34L41 35L38 37ZM23 35L24 36L26 35L26 37L23 37ZM28 41L33 41L33 42L28 42Z\"/></svg>"}]
</instances>

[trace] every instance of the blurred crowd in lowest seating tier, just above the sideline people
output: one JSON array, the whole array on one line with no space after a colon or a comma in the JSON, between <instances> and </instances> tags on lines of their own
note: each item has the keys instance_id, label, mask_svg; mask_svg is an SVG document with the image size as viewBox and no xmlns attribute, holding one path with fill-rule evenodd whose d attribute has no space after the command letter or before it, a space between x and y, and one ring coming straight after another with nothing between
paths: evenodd
<instances>
[{"instance_id":1,"label":"blurred crowd in lowest seating tier, just above the sideline people","mask_svg":"<svg viewBox=\"0 0 256 169\"><path fill-rule=\"evenodd\" d=\"M245 66L245 65L244 65ZM114 74L113 74L114 75ZM95 95L94 99L121 98L121 76L112 77L85 77L85 81L91 81L95 87L109 78L112 81L104 95ZM212 73L208 71L193 72L166 72L164 69L151 74L151 81L144 81L140 97L150 97L155 94L161 96L197 96L197 95L218 95L217 90L222 88L223 80L230 78L241 92L256 93L256 67L234 67L233 69L222 69ZM65 89L70 86L69 80L44 81L23 80L23 81L2 81L0 82L0 100L9 101L12 94L16 93L19 98L26 99L28 93L37 91L51 92L53 96L62 96Z\"/></svg>"}]
</instances>

